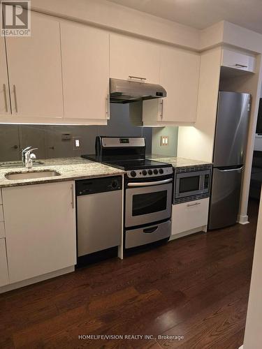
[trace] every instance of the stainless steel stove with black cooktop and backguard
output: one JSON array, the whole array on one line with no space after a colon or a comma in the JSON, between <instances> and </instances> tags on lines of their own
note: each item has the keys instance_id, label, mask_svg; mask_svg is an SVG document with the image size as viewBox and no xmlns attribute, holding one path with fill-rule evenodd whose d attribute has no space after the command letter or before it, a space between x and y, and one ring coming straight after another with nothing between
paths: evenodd
<instances>
[{"instance_id":1,"label":"stainless steel stove with black cooktop and backguard","mask_svg":"<svg viewBox=\"0 0 262 349\"><path fill-rule=\"evenodd\" d=\"M83 155L126 171L124 177L124 247L169 239L173 167L145 158L143 137L97 137L95 156Z\"/></svg>"}]
</instances>

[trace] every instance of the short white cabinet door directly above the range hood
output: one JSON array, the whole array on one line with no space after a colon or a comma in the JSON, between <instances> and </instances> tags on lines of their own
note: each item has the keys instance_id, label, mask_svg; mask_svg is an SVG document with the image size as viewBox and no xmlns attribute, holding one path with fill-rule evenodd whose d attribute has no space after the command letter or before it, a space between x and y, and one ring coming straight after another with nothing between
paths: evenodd
<instances>
[{"instance_id":1,"label":"short white cabinet door directly above the range hood","mask_svg":"<svg viewBox=\"0 0 262 349\"><path fill-rule=\"evenodd\" d=\"M157 45L110 34L110 77L144 77L145 82L159 84L159 55Z\"/></svg>"}]
</instances>

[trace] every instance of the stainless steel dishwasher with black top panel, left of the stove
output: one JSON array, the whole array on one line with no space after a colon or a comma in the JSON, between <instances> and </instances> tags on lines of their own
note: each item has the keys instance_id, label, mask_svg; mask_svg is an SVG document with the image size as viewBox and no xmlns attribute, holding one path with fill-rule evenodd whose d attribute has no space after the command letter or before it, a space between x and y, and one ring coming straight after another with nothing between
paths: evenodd
<instances>
[{"instance_id":1,"label":"stainless steel dishwasher with black top panel, left of the stove","mask_svg":"<svg viewBox=\"0 0 262 349\"><path fill-rule=\"evenodd\" d=\"M121 244L122 177L76 181L78 265L98 251Z\"/></svg>"}]
</instances>

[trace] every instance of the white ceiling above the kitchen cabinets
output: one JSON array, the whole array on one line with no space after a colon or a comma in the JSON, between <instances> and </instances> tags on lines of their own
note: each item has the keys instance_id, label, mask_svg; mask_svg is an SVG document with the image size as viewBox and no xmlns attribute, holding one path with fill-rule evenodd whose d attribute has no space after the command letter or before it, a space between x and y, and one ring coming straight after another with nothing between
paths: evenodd
<instances>
[{"instance_id":1,"label":"white ceiling above the kitchen cabinets","mask_svg":"<svg viewBox=\"0 0 262 349\"><path fill-rule=\"evenodd\" d=\"M262 34L262 0L110 1L197 29L226 20Z\"/></svg>"}]
</instances>

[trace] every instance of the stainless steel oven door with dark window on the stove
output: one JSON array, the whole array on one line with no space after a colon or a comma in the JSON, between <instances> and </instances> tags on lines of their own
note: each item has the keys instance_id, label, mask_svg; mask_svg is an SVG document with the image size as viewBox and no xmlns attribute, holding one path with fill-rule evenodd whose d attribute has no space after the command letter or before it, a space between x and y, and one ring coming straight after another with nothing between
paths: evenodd
<instances>
[{"instance_id":1,"label":"stainless steel oven door with dark window on the stove","mask_svg":"<svg viewBox=\"0 0 262 349\"><path fill-rule=\"evenodd\" d=\"M125 227L168 219L172 207L172 181L129 183L126 188Z\"/></svg>"}]
</instances>

